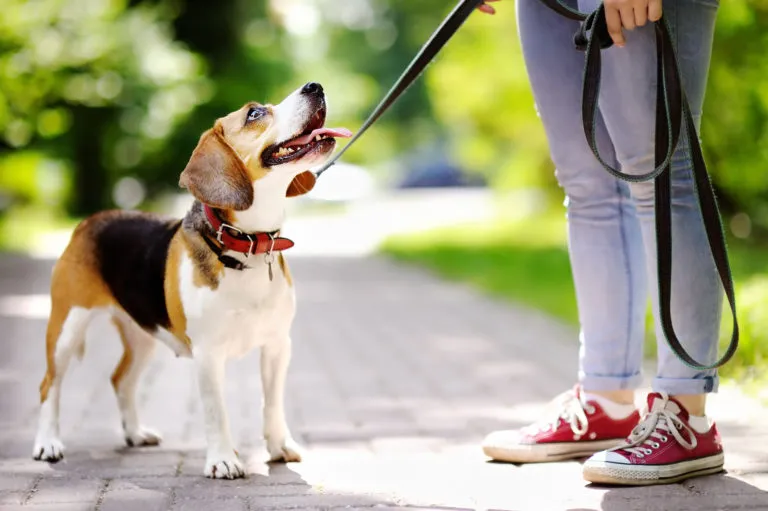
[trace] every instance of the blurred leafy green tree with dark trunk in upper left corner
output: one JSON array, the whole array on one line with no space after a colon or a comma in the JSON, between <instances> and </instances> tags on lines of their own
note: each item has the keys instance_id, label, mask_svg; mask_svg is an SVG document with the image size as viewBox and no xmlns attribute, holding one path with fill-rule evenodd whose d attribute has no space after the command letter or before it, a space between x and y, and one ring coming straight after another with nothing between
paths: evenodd
<instances>
[{"instance_id":1,"label":"blurred leafy green tree with dark trunk in upper left corner","mask_svg":"<svg viewBox=\"0 0 768 511\"><path fill-rule=\"evenodd\" d=\"M206 99L203 62L174 41L173 16L165 3L3 2L1 138L74 163L71 213L105 207L115 175Z\"/></svg>"}]
</instances>

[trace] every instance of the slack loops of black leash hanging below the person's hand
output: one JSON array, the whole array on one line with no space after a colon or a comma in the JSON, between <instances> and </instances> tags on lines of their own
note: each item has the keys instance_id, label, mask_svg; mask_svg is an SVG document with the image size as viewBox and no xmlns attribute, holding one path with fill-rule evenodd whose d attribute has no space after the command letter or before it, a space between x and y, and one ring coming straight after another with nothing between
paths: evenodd
<instances>
[{"instance_id":1,"label":"slack loops of black leash hanging below the person's hand","mask_svg":"<svg viewBox=\"0 0 768 511\"><path fill-rule=\"evenodd\" d=\"M739 324L736 318L736 296L733 278L728 263L725 235L717 208L717 200L712 183L707 173L707 166L701 151L696 126L691 109L683 90L677 57L669 34L669 27L664 18L654 23L656 32L656 168L642 175L628 175L612 168L601 158L597 149L595 118L598 111L600 93L600 50L612 45L605 22L605 8L601 4L594 12L585 14L576 11L558 0L541 0L547 7L567 18L581 22L581 27L574 36L577 48L586 52L584 66L584 89L582 93L582 120L584 134L592 152L600 164L613 176L630 182L655 180L656 209L656 251L659 280L659 309L662 330L669 347L680 360L693 369L700 371L715 369L728 362L739 345ZM696 197L699 202L704 229L709 241L709 249L720 277L720 282L728 298L733 317L731 341L722 358L713 364L696 361L685 350L675 333L670 310L672 293L672 212L670 163L680 139L681 129L685 130L691 151Z\"/></svg>"}]
</instances>

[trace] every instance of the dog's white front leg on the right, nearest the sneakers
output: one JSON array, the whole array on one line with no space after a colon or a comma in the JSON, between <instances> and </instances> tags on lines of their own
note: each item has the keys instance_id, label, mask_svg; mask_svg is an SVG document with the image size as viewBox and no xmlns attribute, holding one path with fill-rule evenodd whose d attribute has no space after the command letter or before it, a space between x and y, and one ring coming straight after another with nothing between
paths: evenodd
<instances>
[{"instance_id":1,"label":"dog's white front leg on the right, nearest the sneakers","mask_svg":"<svg viewBox=\"0 0 768 511\"><path fill-rule=\"evenodd\" d=\"M291 339L261 349L261 384L264 391L264 439L270 461L301 461L301 449L285 420L285 378L291 360Z\"/></svg>"}]
</instances>

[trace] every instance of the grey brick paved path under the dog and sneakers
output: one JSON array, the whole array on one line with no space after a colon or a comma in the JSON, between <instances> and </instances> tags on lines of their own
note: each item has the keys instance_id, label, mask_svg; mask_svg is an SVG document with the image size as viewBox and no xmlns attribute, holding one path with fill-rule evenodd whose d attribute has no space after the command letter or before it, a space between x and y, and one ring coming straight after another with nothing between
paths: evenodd
<instances>
[{"instance_id":1,"label":"grey brick paved path under the dog and sneakers","mask_svg":"<svg viewBox=\"0 0 768 511\"><path fill-rule=\"evenodd\" d=\"M381 259L291 264L299 314L288 412L306 460L263 463L254 353L227 378L250 476L222 482L202 476L192 366L163 347L139 401L164 443L124 448L108 382L120 348L106 321L64 383L65 461L32 461L51 262L0 258L0 509L768 509L768 419L739 394L724 389L711 407L728 475L612 489L586 486L578 462L489 463L478 448L487 431L536 418L571 385L574 332Z\"/></svg>"}]
</instances>

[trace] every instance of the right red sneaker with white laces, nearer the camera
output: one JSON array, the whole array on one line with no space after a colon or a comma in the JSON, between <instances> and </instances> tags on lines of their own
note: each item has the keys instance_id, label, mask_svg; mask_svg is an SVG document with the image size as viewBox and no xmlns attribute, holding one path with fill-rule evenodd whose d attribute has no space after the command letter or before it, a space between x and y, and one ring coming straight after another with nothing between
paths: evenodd
<instances>
[{"instance_id":1,"label":"right red sneaker with white laces, nearer the camera","mask_svg":"<svg viewBox=\"0 0 768 511\"><path fill-rule=\"evenodd\" d=\"M584 463L591 483L666 484L723 470L723 446L714 424L699 433L686 409L665 393L648 396L648 413L627 444L595 454Z\"/></svg>"}]
</instances>

